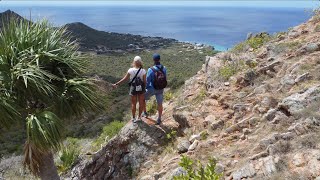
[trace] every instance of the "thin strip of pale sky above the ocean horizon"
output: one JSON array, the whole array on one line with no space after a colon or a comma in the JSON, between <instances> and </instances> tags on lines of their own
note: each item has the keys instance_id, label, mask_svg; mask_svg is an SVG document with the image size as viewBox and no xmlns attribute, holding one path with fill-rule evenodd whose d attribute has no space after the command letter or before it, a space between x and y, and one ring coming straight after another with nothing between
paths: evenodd
<instances>
[{"instance_id":1,"label":"thin strip of pale sky above the ocean horizon","mask_svg":"<svg viewBox=\"0 0 320 180\"><path fill-rule=\"evenodd\" d=\"M320 6L320 1L316 0L269 0L269 1L259 1L259 0L211 0L211 1L155 1L155 0L145 0L145 1L134 1L134 0L123 0L123 1L107 1L107 0L98 0L98 1L86 1L86 0L77 0L77 4L74 3L76 0L2 0L1 4L15 4L15 5L50 5L50 6L95 6L95 5L144 5L144 6L236 6L236 7L293 7L293 8L316 8Z\"/></svg>"}]
</instances>

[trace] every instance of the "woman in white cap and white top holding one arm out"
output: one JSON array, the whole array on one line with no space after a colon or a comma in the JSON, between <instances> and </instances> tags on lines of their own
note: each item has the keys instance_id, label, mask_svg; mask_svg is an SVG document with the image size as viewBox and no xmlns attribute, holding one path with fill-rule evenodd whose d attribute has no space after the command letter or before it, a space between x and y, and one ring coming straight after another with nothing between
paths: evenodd
<instances>
[{"instance_id":1,"label":"woman in white cap and white top holding one arm out","mask_svg":"<svg viewBox=\"0 0 320 180\"><path fill-rule=\"evenodd\" d=\"M113 84L117 88L121 83L129 80L129 95L131 96L131 111L132 122L136 123L136 105L139 101L139 115L138 121L141 121L141 114L145 107L144 93L146 87L146 70L143 69L142 60L140 56L136 56L132 62L127 74L117 83Z\"/></svg>"}]
</instances>

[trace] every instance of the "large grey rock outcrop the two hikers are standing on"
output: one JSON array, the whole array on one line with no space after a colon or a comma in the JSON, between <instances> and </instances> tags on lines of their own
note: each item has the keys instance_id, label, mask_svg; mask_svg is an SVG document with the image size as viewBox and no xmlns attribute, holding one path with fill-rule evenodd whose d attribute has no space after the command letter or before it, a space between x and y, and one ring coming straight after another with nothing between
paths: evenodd
<instances>
[{"instance_id":1,"label":"large grey rock outcrop the two hikers are standing on","mask_svg":"<svg viewBox=\"0 0 320 180\"><path fill-rule=\"evenodd\" d=\"M130 179L128 167L138 171L166 143L166 132L160 127L128 123L91 158L75 164L70 174L73 179Z\"/></svg>"}]
</instances>

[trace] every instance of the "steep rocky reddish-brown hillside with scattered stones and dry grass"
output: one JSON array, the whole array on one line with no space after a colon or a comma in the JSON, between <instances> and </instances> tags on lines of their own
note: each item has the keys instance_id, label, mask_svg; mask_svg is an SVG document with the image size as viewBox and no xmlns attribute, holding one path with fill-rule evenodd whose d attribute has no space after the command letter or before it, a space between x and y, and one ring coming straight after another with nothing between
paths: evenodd
<instances>
[{"instance_id":1,"label":"steep rocky reddish-brown hillside with scattered stones and dry grass","mask_svg":"<svg viewBox=\"0 0 320 180\"><path fill-rule=\"evenodd\" d=\"M207 57L166 102L163 125L129 122L68 177L172 179L187 156L216 159L225 179L320 179L319 40L316 14Z\"/></svg>"}]
</instances>

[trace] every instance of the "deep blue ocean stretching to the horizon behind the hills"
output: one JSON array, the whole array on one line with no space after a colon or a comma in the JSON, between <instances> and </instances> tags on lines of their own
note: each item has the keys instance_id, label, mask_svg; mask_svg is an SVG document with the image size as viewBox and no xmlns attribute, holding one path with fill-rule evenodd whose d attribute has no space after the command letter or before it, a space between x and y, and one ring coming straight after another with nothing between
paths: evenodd
<instances>
[{"instance_id":1,"label":"deep blue ocean stretching to the horizon behind the hills","mask_svg":"<svg viewBox=\"0 0 320 180\"><path fill-rule=\"evenodd\" d=\"M80 4L79 4L80 3ZM218 50L231 48L249 32L270 34L287 31L305 22L310 11L292 7L214 7L214 6L144 6L81 2L46 5L45 3L0 2L0 11L12 10L32 20L46 18L53 25L82 22L92 28L161 36L179 41L213 45Z\"/></svg>"}]
</instances>

